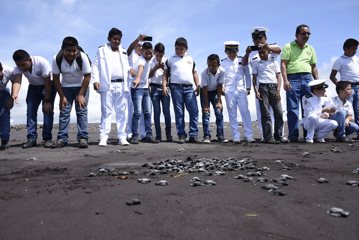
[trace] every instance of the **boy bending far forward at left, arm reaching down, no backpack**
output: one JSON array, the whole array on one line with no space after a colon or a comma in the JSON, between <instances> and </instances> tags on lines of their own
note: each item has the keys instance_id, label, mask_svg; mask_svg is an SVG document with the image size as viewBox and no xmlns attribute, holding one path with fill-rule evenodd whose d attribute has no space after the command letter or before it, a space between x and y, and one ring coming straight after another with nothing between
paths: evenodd
<instances>
[{"instance_id":1,"label":"boy bending far forward at left, arm reaching down, no backpack","mask_svg":"<svg viewBox=\"0 0 359 240\"><path fill-rule=\"evenodd\" d=\"M44 147L52 146L52 125L53 125L53 104L56 97L56 89L51 82L51 66L43 57L33 56L24 51L17 50L13 54L16 66L14 67L14 83L12 98L18 103L18 93L21 86L22 75L28 79L29 87L26 96L27 104L27 142L22 148L32 148L37 145L37 110L42 103L44 116L42 140L45 141Z\"/></svg>"}]
</instances>

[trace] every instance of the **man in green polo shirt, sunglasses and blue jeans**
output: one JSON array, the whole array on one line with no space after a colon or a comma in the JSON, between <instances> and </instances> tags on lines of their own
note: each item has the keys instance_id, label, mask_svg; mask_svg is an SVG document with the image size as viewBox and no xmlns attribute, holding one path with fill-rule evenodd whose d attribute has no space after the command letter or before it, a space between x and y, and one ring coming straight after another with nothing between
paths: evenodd
<instances>
[{"instance_id":1,"label":"man in green polo shirt, sunglasses and blue jeans","mask_svg":"<svg viewBox=\"0 0 359 240\"><path fill-rule=\"evenodd\" d=\"M291 142L296 142L299 138L299 102L303 96L311 93L308 83L313 78L318 79L315 51L307 44L310 35L307 25L299 25L295 31L297 39L284 45L283 55L280 57L283 88L287 100L288 138ZM300 109L303 116L302 103ZM307 135L305 129L303 135Z\"/></svg>"}]
</instances>

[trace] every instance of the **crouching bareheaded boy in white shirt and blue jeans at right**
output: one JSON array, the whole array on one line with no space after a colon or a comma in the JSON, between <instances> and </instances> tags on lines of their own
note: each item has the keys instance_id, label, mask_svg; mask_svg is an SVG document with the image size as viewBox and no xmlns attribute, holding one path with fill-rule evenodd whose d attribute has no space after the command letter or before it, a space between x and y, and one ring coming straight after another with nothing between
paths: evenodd
<instances>
[{"instance_id":1,"label":"crouching bareheaded boy in white shirt and blue jeans at right","mask_svg":"<svg viewBox=\"0 0 359 240\"><path fill-rule=\"evenodd\" d=\"M359 131L359 126L351 122L353 106L348 101L351 94L351 82L339 81L335 90L338 96L332 97L331 100L333 101L332 106L338 110L329 115L330 120L335 120L338 123L337 129L333 133L334 137L337 142L354 143L355 141L348 136Z\"/></svg>"}]
</instances>

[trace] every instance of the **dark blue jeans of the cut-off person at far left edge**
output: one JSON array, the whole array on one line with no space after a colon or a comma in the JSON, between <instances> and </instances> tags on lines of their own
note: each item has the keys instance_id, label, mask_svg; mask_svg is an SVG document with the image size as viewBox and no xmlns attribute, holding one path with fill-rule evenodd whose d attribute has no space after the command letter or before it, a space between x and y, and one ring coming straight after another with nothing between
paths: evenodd
<instances>
[{"instance_id":1,"label":"dark blue jeans of the cut-off person at far left edge","mask_svg":"<svg viewBox=\"0 0 359 240\"><path fill-rule=\"evenodd\" d=\"M10 99L10 90L6 88L0 91L0 139L9 141L10 139L10 111L6 107Z\"/></svg>"}]
</instances>

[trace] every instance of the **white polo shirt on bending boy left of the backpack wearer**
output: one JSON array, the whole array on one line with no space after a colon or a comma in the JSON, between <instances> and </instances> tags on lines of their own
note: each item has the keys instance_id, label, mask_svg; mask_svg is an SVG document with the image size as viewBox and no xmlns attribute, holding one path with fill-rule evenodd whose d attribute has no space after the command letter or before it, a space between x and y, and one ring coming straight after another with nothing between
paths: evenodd
<instances>
[{"instance_id":1,"label":"white polo shirt on bending boy left of the backpack wearer","mask_svg":"<svg viewBox=\"0 0 359 240\"><path fill-rule=\"evenodd\" d=\"M44 78L50 76L52 80L50 63L43 57L33 56L32 59L32 71L24 72L18 66L14 66L14 75L22 75L27 78L29 83L34 86L45 85Z\"/></svg>"}]
</instances>

